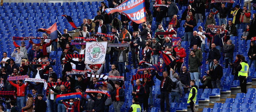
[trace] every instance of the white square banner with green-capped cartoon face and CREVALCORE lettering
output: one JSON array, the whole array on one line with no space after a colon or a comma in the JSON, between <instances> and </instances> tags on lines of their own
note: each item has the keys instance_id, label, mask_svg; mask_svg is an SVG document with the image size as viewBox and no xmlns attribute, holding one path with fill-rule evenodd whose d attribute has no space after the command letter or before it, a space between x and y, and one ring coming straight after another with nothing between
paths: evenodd
<instances>
[{"instance_id":1,"label":"white square banner with green-capped cartoon face and CREVALCORE lettering","mask_svg":"<svg viewBox=\"0 0 256 112\"><path fill-rule=\"evenodd\" d=\"M86 42L86 64L102 64L105 60L108 42Z\"/></svg>"}]
</instances>

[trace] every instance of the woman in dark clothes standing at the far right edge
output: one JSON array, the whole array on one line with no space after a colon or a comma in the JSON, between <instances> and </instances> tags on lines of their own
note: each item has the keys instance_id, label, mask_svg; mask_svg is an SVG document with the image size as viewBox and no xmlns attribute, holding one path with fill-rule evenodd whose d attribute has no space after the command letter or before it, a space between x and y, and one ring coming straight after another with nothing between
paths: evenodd
<instances>
[{"instance_id":1,"label":"woman in dark clothes standing at the far right edge","mask_svg":"<svg viewBox=\"0 0 256 112\"><path fill-rule=\"evenodd\" d=\"M256 46L254 45L253 42L250 44L250 48L248 51L248 57L249 57L249 62L248 65L251 67L252 62L254 64L254 68L256 67Z\"/></svg>"}]
</instances>

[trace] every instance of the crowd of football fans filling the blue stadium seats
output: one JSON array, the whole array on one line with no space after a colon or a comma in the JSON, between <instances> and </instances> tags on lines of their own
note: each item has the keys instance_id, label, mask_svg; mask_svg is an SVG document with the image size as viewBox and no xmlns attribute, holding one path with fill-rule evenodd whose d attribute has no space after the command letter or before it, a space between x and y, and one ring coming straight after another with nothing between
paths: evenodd
<instances>
[{"instance_id":1,"label":"crowd of football fans filling the blue stadium seats","mask_svg":"<svg viewBox=\"0 0 256 112\"><path fill-rule=\"evenodd\" d=\"M31 39L27 45L22 41L20 43L21 46L14 41L13 44L16 49L12 52L11 57L8 57L6 52L2 54L0 78L4 82L4 87L1 87L0 91L15 91L16 98L11 95L1 95L0 104L4 104L5 106L0 105L0 111L15 112L17 109L18 112L22 110L28 112L66 112L67 110L68 112L78 110L109 112L109 107L113 104L115 112L120 112L120 108L126 101L127 94L124 88L122 88L122 81L108 80L107 82L104 79L84 77L82 75L66 76L66 72L72 69L82 71L91 70L94 75L103 73L109 76L124 76L125 81L130 81L129 76L126 76L127 72L129 73L128 65L132 69L150 68L148 64L140 65L140 61L158 64L161 51L167 52L169 56L173 56L176 59L169 65L163 65L164 72L162 73L147 69L141 73L151 74L151 79L143 78L143 80L136 80L136 85L133 87L132 92L128 92L128 94L133 96L133 105L128 107L129 112L137 112L138 108L140 111L146 112L149 107L154 107L152 97L152 90L155 85L154 76L161 81L159 96L161 112L165 111L165 105L166 112L170 111L169 94L171 94L171 102L179 102L180 97L184 94L183 89L185 93L190 90L191 95L189 94L188 103L190 104L191 110L195 111L195 94L197 89L221 89L223 68L232 69L231 74L234 75L234 80L240 80L241 91L246 93L248 68L251 67L252 63L256 67L256 43L255 41L250 42L248 56L238 54L236 55L236 59L233 59L235 45L230 40L230 37L237 36L239 27L244 31L241 40L251 40L254 36L256 25L255 14L250 12L251 2L247 3L249 4L248 10L247 6L243 6L242 10L239 5L232 8L232 3L213 3L210 4L212 12L205 17L205 10L202 9L205 8L205 4L208 4L208 2L205 3L202 0L195 0L193 3L189 3L189 5L182 0L178 2L171 0L146 0L146 21L141 23L142 29L139 29L140 24L132 22L130 25L133 31L130 30L130 20L125 15L119 14L118 12L108 15L104 12L104 9L117 7L122 2L119 0L110 0L109 7L104 2L101 2L100 10L97 11L97 16L95 16L94 20L83 19L83 23L81 24L79 31L80 37L95 37L99 42L107 41L108 44L130 43L131 51L127 47L108 47L105 61L102 64L86 64L85 58L69 58L68 62L65 62L65 56L67 54L86 53L86 45L77 47L70 44L73 38L67 32L67 29L63 31L64 34L62 35L58 32L59 37L55 40L40 39L40 43L34 43ZM181 24L177 17L179 8L175 3L179 3L180 6L187 5L183 14L178 15L181 20L185 20L184 24ZM153 4L168 4L169 7L153 7ZM120 20L118 19L118 15L121 15ZM253 15L252 19L251 15ZM217 16L218 22L215 21L214 16ZM228 24L227 16L233 16L233 20L228 20ZM153 21L153 17L155 17L155 21ZM169 23L166 21L167 18L169 18ZM199 21L203 24L197 27ZM216 25L216 23L221 25L222 28L214 29L208 27L208 25ZM155 31L151 30L153 25L157 26ZM184 45L182 45L181 41L175 46L172 43L172 38L176 38L177 35L181 34L181 32L177 31L180 27L184 27L184 31L182 32L185 32L184 36L182 35L180 38L182 41L188 43L185 46L189 46L189 49L183 48L182 46ZM94 35L97 32L114 34L114 38L97 37ZM173 34L156 35L156 32L172 32ZM47 35L43 34L43 37L47 37ZM49 57L51 51L57 51L57 43L59 43L62 49L62 54L58 56L60 60L54 60ZM32 49L28 51L30 45L32 45ZM206 50L206 48L210 49ZM202 53L207 52L209 53L208 58L203 60L205 56ZM222 53L223 55L221 55ZM188 68L183 65L184 58L186 57L188 58ZM221 59L225 60L224 67L219 64L219 62L224 61ZM36 65L27 64L27 61L49 63ZM61 63L61 74L55 73L55 66L59 66L56 64L56 61ZM209 64L209 69L207 74L201 78L201 74L204 74L204 71L202 71L203 73L200 71L202 64ZM7 80L8 76L23 75L29 75L30 78L44 79L48 83L69 82L71 89L69 92L64 85L55 85L49 89L49 94L46 96L44 84L41 82L33 83L24 80ZM97 86L97 82L99 81L105 82ZM200 81L203 83L202 86L199 85ZM86 89L109 91L111 99L101 93L86 93ZM27 90L29 90L29 93ZM56 103L57 95L75 92L81 92L83 97L59 100ZM85 94L88 94L89 97L85 97ZM44 98L46 98L47 103ZM148 99L150 102L148 102Z\"/></svg>"}]
</instances>

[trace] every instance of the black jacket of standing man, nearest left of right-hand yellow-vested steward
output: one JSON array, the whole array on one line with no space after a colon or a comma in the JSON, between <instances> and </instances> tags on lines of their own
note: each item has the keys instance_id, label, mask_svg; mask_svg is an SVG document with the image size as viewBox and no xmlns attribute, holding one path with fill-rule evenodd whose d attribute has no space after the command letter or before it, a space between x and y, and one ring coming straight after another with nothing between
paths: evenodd
<instances>
[{"instance_id":1,"label":"black jacket of standing man, nearest left of right-hand yellow-vested steward","mask_svg":"<svg viewBox=\"0 0 256 112\"><path fill-rule=\"evenodd\" d=\"M213 69L213 71L211 71L211 69ZM223 68L221 65L217 64L217 67L214 69L214 65L211 67L210 69L210 74L211 74L211 78L212 80L216 80L219 79L221 80L222 76L223 76Z\"/></svg>"}]
</instances>

